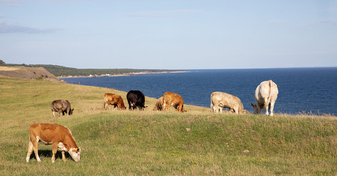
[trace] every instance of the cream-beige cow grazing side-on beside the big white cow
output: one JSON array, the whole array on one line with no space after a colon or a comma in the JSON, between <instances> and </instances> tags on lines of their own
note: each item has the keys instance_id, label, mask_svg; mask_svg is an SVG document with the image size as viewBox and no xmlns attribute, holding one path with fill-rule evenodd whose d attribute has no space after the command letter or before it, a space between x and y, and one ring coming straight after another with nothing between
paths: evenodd
<instances>
[{"instance_id":1,"label":"cream-beige cow grazing side-on beside the big white cow","mask_svg":"<svg viewBox=\"0 0 337 176\"><path fill-rule=\"evenodd\" d=\"M241 100L229 93L213 92L211 93L211 111L217 112L222 108L228 108L230 112L235 114L250 114L247 110L243 109Z\"/></svg>"}]
</instances>

